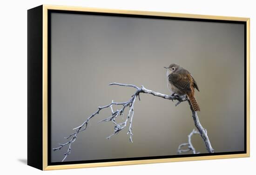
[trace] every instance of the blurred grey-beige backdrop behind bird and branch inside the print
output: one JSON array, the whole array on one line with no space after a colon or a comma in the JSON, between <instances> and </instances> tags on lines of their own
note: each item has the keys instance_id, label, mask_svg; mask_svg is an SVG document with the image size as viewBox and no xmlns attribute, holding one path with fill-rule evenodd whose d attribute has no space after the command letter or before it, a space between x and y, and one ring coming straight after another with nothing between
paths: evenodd
<instances>
[{"instance_id":1,"label":"blurred grey-beige backdrop behind bird and branch inside the print","mask_svg":"<svg viewBox=\"0 0 256 175\"><path fill-rule=\"evenodd\" d=\"M127 101L135 92L110 82L170 94L163 66L178 63L197 81L198 115L215 151L244 150L243 25L60 13L51 20L52 148L98 106ZM90 120L66 161L176 155L195 128L187 102L175 107L148 94L135 103L133 144L128 128L106 139L114 125L97 121L109 115L106 109ZM193 144L206 152L200 136ZM66 151L52 151L52 162L60 162Z\"/></svg>"}]
</instances>

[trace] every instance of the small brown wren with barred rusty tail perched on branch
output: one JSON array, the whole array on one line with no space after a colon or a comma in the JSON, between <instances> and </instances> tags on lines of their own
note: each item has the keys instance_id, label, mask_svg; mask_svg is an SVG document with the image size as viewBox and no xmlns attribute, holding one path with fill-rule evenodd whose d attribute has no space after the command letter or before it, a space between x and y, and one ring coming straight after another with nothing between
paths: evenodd
<instances>
[{"instance_id":1,"label":"small brown wren with barred rusty tail perched on branch","mask_svg":"<svg viewBox=\"0 0 256 175\"><path fill-rule=\"evenodd\" d=\"M199 88L195 79L188 70L182 68L178 64L171 64L167 69L167 86L170 91L178 96L187 95L194 111L200 111L200 107L195 100L195 89Z\"/></svg>"}]
</instances>

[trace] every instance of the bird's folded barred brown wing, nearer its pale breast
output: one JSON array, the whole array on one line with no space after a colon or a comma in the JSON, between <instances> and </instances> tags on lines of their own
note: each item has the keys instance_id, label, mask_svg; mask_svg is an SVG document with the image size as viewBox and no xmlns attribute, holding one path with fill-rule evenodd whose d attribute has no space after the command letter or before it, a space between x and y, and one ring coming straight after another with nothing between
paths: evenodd
<instances>
[{"instance_id":1,"label":"bird's folded barred brown wing, nearer its pale breast","mask_svg":"<svg viewBox=\"0 0 256 175\"><path fill-rule=\"evenodd\" d=\"M170 74L169 81L177 88L185 92L191 92L191 76L189 74Z\"/></svg>"}]
</instances>

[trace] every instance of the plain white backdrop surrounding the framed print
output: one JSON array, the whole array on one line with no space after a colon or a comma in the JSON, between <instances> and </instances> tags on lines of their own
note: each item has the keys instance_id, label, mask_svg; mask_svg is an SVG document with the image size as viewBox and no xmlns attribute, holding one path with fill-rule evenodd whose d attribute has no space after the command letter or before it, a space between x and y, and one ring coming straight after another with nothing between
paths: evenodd
<instances>
[{"instance_id":1,"label":"plain white backdrop surrounding the framed print","mask_svg":"<svg viewBox=\"0 0 256 175\"><path fill-rule=\"evenodd\" d=\"M87 6L141 11L179 12L251 18L250 158L155 163L42 172L27 162L27 9L41 4ZM253 0L31 0L1 1L0 27L0 172L1 174L253 174L255 173L255 46ZM235 71L235 70L234 70ZM242 92L241 92L242 93ZM253 98L254 97L254 98ZM242 100L242 99L241 99Z\"/></svg>"}]
</instances>

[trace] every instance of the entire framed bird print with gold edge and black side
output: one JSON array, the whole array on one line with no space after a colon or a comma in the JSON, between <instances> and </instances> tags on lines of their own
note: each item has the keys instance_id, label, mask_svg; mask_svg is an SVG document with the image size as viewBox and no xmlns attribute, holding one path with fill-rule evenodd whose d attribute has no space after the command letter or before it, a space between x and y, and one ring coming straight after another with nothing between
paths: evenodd
<instances>
[{"instance_id":1,"label":"entire framed bird print with gold edge and black side","mask_svg":"<svg viewBox=\"0 0 256 175\"><path fill-rule=\"evenodd\" d=\"M249 18L28 10L27 164L249 156Z\"/></svg>"}]
</instances>

